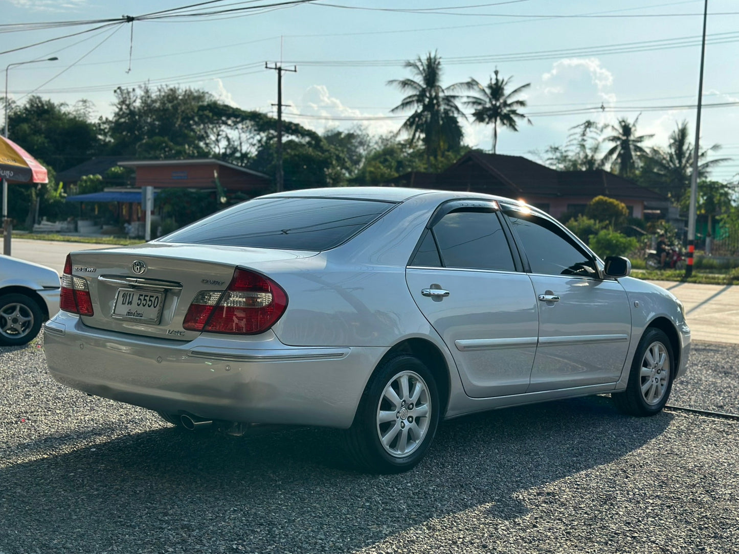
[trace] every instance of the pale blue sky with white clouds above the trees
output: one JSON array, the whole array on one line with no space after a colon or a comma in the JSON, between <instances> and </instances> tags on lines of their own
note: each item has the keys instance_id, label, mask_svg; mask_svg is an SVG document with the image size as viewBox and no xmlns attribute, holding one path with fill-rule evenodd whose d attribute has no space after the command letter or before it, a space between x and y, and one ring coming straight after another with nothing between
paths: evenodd
<instances>
[{"instance_id":1,"label":"pale blue sky with white clouds above the trees","mask_svg":"<svg viewBox=\"0 0 739 554\"><path fill-rule=\"evenodd\" d=\"M445 86L471 77L486 83L495 69L511 77L512 87L531 83L522 112L533 125L500 131L499 154L541 160L547 146L565 143L569 129L588 118L638 116L638 134L654 134L653 146L664 146L683 120L695 134L703 0L319 0L265 7L280 1L211 1L189 11L254 9L89 31L101 23L27 24L142 16L197 0L0 0L0 69L56 56L11 66L10 98L22 103L35 94L69 106L86 99L98 117L111 114L116 87L146 82L205 89L242 109L275 114L277 75L265 62L295 66L283 74L286 119L321 132L359 125L386 134L403 121L390 112L403 93L387 82L411 76L404 61L437 52ZM738 27L738 0L709 0L701 149L721 144L712 157L732 160L712 177L734 181ZM81 34L50 41L72 33ZM466 122L463 129L466 144L491 149L489 126Z\"/></svg>"}]
</instances>

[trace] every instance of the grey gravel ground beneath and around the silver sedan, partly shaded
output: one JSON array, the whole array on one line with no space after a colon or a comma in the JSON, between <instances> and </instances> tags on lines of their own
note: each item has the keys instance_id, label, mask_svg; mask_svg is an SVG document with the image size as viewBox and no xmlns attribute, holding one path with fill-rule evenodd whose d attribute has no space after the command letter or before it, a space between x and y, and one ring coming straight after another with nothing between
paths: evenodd
<instances>
[{"instance_id":1,"label":"grey gravel ground beneath and around the silver sedan, partly shaded","mask_svg":"<svg viewBox=\"0 0 739 554\"><path fill-rule=\"evenodd\" d=\"M739 346L699 343L672 403L739 412ZM727 378L728 377L728 378ZM440 427L414 471L338 433L184 434L0 348L0 554L739 553L739 424L607 397Z\"/></svg>"}]
</instances>

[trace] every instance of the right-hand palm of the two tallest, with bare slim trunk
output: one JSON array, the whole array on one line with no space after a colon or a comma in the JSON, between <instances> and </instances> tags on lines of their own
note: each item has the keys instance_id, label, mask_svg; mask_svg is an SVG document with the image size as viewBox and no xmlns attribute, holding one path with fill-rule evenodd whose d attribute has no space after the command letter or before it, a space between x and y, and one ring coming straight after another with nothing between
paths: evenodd
<instances>
[{"instance_id":1,"label":"right-hand palm of the two tallest, with bare slim trunk","mask_svg":"<svg viewBox=\"0 0 739 554\"><path fill-rule=\"evenodd\" d=\"M531 120L518 110L526 107L526 100L514 100L522 91L528 89L531 83L519 86L511 92L505 92L505 87L511 82L512 76L502 79L495 70L495 78L490 78L488 84L483 86L474 78L464 83L463 88L474 92L468 96L464 105L472 109L472 118L477 123L493 126L493 154L496 153L498 145L498 125L508 127L511 131L518 131L516 120L526 120L533 125Z\"/></svg>"}]
</instances>

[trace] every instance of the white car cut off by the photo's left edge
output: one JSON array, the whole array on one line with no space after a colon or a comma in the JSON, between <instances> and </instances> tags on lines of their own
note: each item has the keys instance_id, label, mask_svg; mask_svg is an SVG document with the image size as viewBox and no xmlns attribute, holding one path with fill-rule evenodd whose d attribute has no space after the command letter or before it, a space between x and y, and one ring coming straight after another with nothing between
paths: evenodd
<instances>
[{"instance_id":1,"label":"white car cut off by the photo's left edge","mask_svg":"<svg viewBox=\"0 0 739 554\"><path fill-rule=\"evenodd\" d=\"M50 267L0 255L0 346L33 341L59 311L60 287Z\"/></svg>"}]
</instances>

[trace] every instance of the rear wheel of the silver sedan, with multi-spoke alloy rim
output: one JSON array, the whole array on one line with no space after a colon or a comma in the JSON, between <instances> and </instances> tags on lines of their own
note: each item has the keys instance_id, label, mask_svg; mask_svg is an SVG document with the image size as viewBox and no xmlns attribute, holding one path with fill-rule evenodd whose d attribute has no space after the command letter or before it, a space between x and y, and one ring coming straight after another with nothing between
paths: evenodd
<instances>
[{"instance_id":1,"label":"rear wheel of the silver sedan, with multi-spoke alloy rim","mask_svg":"<svg viewBox=\"0 0 739 554\"><path fill-rule=\"evenodd\" d=\"M440 417L432 372L410 355L382 363L367 383L352 426L347 451L372 473L401 473L420 462Z\"/></svg>"}]
</instances>

